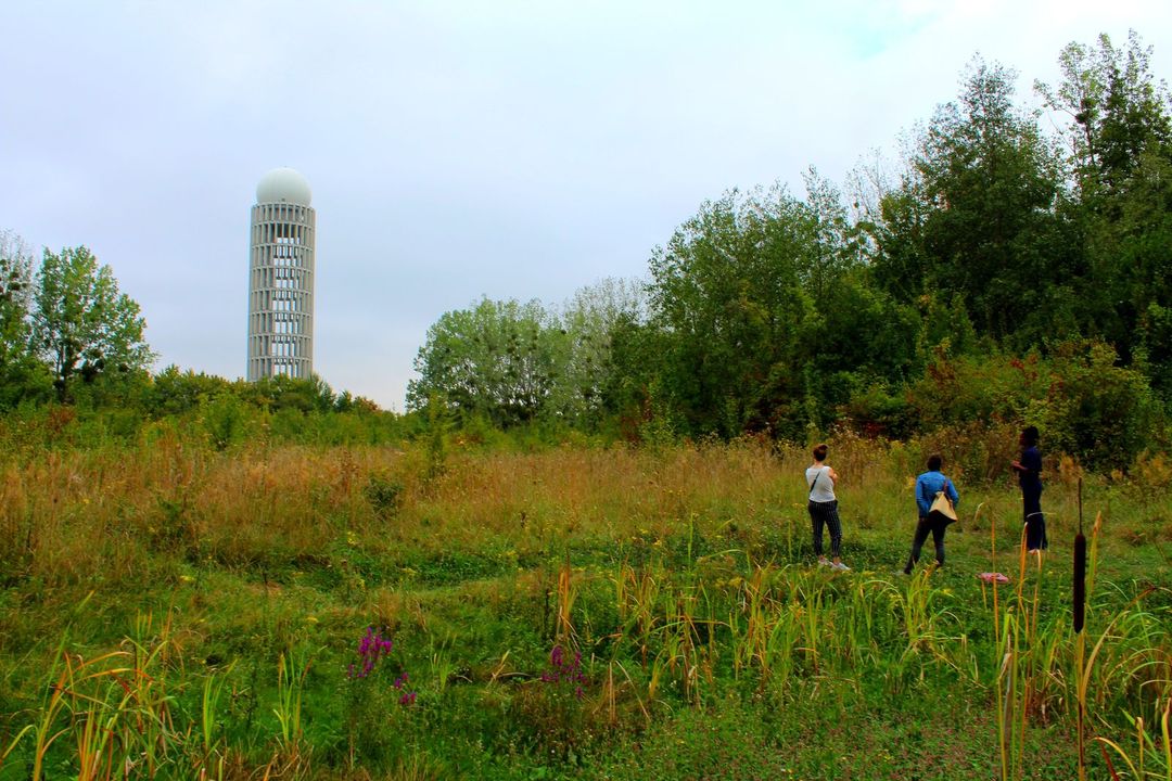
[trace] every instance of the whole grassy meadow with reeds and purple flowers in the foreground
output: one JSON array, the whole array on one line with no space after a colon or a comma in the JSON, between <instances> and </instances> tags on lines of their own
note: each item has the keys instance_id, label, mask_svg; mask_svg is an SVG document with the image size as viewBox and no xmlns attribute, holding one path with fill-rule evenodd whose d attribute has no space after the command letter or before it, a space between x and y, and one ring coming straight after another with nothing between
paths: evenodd
<instances>
[{"instance_id":1,"label":"whole grassy meadow with reeds and purple flowers in the foreground","mask_svg":"<svg viewBox=\"0 0 1172 781\"><path fill-rule=\"evenodd\" d=\"M1037 560L946 464L905 577L922 453L831 445L850 573L758 441L9 448L0 780L1172 779L1172 466L1055 463Z\"/></svg>"}]
</instances>

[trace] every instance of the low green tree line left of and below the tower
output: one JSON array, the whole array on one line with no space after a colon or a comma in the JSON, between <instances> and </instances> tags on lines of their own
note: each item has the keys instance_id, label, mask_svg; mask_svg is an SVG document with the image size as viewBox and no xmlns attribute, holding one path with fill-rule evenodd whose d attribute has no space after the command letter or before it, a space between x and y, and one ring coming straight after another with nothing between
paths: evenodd
<instances>
[{"instance_id":1,"label":"low green tree line left of and below the tower","mask_svg":"<svg viewBox=\"0 0 1172 781\"><path fill-rule=\"evenodd\" d=\"M87 247L45 249L0 232L0 444L136 441L169 422L216 448L259 437L308 444L389 441L410 425L323 379L229 381L169 365L114 272Z\"/></svg>"}]
</instances>

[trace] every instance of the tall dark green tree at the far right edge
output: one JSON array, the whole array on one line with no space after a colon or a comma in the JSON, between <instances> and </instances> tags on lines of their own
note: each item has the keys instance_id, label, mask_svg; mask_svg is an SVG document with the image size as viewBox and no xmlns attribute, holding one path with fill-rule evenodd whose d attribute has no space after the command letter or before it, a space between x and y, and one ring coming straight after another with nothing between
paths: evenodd
<instances>
[{"instance_id":1,"label":"tall dark green tree at the far right edge","mask_svg":"<svg viewBox=\"0 0 1172 781\"><path fill-rule=\"evenodd\" d=\"M1069 210L1086 272L1077 301L1089 335L1120 359L1144 354L1158 381L1160 313L1172 306L1172 96L1151 71L1151 47L1132 32L1125 47L1101 35L1058 56L1062 81L1035 84L1048 108L1069 117L1068 162L1078 200Z\"/></svg>"}]
</instances>

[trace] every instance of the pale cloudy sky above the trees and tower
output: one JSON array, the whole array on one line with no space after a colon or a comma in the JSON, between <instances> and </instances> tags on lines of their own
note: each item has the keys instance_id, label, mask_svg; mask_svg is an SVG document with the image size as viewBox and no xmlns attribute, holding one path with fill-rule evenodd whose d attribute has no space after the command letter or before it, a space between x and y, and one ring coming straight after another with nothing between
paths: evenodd
<instances>
[{"instance_id":1,"label":"pale cloudy sky above the trees and tower","mask_svg":"<svg viewBox=\"0 0 1172 781\"><path fill-rule=\"evenodd\" d=\"M4 0L0 229L88 246L156 369L234 379L255 186L297 169L314 370L403 411L444 313L643 278L704 200L898 152L975 54L1033 104L1129 29L1167 77L1166 0Z\"/></svg>"}]
</instances>

